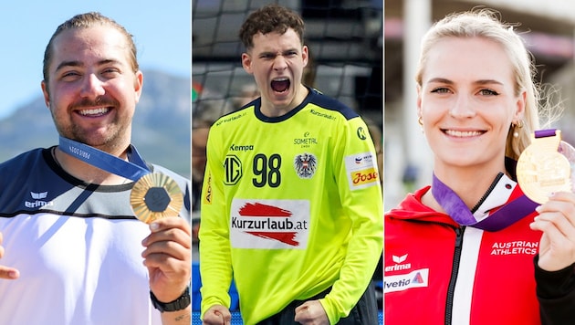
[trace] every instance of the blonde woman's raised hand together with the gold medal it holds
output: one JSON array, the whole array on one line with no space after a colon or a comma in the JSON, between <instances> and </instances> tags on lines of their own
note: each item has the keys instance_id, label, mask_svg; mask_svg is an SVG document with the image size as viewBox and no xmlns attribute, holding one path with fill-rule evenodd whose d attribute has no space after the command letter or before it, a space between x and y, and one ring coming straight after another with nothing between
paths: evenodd
<instances>
[{"instance_id":1,"label":"blonde woman's raised hand together with the gold medal it holds","mask_svg":"<svg viewBox=\"0 0 575 325\"><path fill-rule=\"evenodd\" d=\"M538 266L557 271L575 263L575 149L561 142L559 130L536 131L517 161L517 182L539 205L530 225L543 232Z\"/></svg>"}]
</instances>

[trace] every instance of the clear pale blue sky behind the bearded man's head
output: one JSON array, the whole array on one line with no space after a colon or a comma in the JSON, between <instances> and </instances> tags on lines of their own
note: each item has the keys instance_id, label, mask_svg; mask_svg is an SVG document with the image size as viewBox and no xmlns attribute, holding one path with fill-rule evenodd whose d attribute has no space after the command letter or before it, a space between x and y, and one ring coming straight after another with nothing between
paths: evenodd
<instances>
[{"instance_id":1,"label":"clear pale blue sky behind the bearded man's head","mask_svg":"<svg viewBox=\"0 0 575 325\"><path fill-rule=\"evenodd\" d=\"M42 58L57 26L99 11L134 36L140 67L189 77L191 1L18 0L0 4L0 119L41 95Z\"/></svg>"}]
</instances>

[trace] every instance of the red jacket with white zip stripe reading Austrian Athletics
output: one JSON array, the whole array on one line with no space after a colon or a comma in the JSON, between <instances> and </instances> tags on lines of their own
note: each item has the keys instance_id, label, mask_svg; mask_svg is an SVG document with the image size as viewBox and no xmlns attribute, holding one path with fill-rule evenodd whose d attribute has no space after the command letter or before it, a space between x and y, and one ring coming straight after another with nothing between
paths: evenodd
<instances>
[{"instance_id":1,"label":"red jacket with white zip stripe reading Austrian Athletics","mask_svg":"<svg viewBox=\"0 0 575 325\"><path fill-rule=\"evenodd\" d=\"M521 194L505 185L507 198ZM534 276L541 233L529 228L537 213L488 232L423 205L429 190L408 194L385 215L384 324L541 324Z\"/></svg>"}]
</instances>

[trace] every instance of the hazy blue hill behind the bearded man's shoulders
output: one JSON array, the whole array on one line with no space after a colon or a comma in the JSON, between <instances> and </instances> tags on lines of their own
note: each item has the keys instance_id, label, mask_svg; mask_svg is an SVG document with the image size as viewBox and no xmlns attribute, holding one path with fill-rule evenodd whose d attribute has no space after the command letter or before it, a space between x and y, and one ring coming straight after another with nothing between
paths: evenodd
<instances>
[{"instance_id":1,"label":"hazy blue hill behind the bearded man's shoulders","mask_svg":"<svg viewBox=\"0 0 575 325\"><path fill-rule=\"evenodd\" d=\"M147 162L189 177L190 79L160 71L143 71L143 74L143 91L132 124L132 143ZM0 162L57 142L56 127L39 87L37 98L0 120Z\"/></svg>"}]
</instances>

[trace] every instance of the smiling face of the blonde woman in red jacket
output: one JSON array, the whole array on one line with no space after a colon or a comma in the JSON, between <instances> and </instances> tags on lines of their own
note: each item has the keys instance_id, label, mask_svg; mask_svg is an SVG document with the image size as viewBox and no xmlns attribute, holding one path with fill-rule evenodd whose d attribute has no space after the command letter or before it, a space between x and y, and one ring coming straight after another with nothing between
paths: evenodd
<instances>
[{"instance_id":1,"label":"smiling face of the blonde woman in red jacket","mask_svg":"<svg viewBox=\"0 0 575 325\"><path fill-rule=\"evenodd\" d=\"M428 53L418 92L436 168L503 165L509 126L525 107L503 47L482 37L445 37Z\"/></svg>"}]
</instances>

